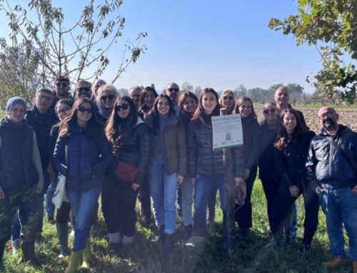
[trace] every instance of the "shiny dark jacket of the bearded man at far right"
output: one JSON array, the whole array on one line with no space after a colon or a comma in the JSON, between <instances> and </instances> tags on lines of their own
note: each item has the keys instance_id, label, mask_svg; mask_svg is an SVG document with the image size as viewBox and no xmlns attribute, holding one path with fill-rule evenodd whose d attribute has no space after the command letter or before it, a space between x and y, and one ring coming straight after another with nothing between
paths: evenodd
<instances>
[{"instance_id":1,"label":"shiny dark jacket of the bearded man at far right","mask_svg":"<svg viewBox=\"0 0 357 273\"><path fill-rule=\"evenodd\" d=\"M342 188L356 185L357 177L357 133L347 126L338 125L338 130L328 140L326 130L311 140L306 162L307 178L311 187L318 185Z\"/></svg>"}]
</instances>

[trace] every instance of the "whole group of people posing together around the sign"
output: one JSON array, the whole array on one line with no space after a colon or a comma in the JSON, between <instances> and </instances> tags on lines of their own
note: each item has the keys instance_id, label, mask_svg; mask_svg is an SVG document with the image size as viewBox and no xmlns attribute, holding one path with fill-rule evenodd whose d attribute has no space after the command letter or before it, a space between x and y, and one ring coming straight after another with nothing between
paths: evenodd
<instances>
[{"instance_id":1,"label":"whole group of people posing together around the sign","mask_svg":"<svg viewBox=\"0 0 357 273\"><path fill-rule=\"evenodd\" d=\"M315 135L288 98L287 88L279 87L274 102L263 105L262 120L246 96L235 101L233 91L219 97L212 88L204 88L197 98L180 91L176 83L169 83L159 95L153 87L134 86L129 96L123 96L103 80L80 80L72 97L69 78L58 76L54 91L36 91L33 110L27 110L22 98L9 98L0 123L1 267L11 234L13 249L21 246L24 261L39 266L34 245L42 239L45 210L47 220L56 222L60 258L70 252L69 220L73 222L74 244L66 272L76 272L80 264L89 268L89 235L99 195L111 254L129 255L138 194L144 225L150 227L154 212L159 242L170 257L178 213L185 239L207 237L219 190L225 246L223 151L213 150L212 117L226 108L228 114L240 114L243 130L243 145L231 149L233 179L246 192L244 205L236 205L237 243L248 247L251 193L259 170L271 247L294 239L295 201L303 195L304 234L298 251L311 248L321 205L333 254L323 266L346 262L344 225L356 273L357 134L338 124L336 110L323 107L318 111L321 133ZM69 202L62 203L55 220L51 199L58 175L66 177Z\"/></svg>"}]
</instances>

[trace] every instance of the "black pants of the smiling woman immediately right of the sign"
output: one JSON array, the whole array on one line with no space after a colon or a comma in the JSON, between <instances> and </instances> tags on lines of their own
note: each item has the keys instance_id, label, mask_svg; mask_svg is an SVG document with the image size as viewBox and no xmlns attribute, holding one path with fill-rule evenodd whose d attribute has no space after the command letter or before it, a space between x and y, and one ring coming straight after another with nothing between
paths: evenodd
<instances>
[{"instance_id":1,"label":"black pants of the smiling woman immediately right of the sign","mask_svg":"<svg viewBox=\"0 0 357 273\"><path fill-rule=\"evenodd\" d=\"M254 165L251 168L251 174L246 180L246 200L244 205L236 210L236 222L241 230L249 230L252 226L252 207L251 207L251 192L253 190L254 180L256 180L257 167ZM236 205L236 209L238 205Z\"/></svg>"}]
</instances>

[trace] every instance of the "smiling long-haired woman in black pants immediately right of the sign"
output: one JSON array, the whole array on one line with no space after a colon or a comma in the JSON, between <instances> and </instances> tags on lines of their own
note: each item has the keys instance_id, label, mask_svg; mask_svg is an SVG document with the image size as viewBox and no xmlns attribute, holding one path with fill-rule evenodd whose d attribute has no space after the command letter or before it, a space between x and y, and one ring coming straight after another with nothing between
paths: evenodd
<instances>
[{"instance_id":1,"label":"smiling long-haired woman in black pants immediately right of the sign","mask_svg":"<svg viewBox=\"0 0 357 273\"><path fill-rule=\"evenodd\" d=\"M259 123L253 108L251 98L238 98L234 113L241 115L243 130L243 150L245 161L246 200L242 207L236 207L236 222L241 233L241 247L246 247L248 232L252 227L251 192L256 180L257 160L259 151Z\"/></svg>"}]
</instances>

